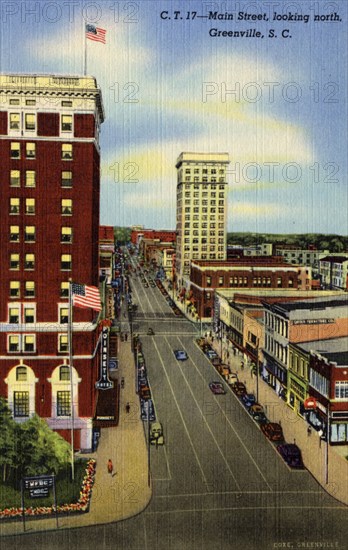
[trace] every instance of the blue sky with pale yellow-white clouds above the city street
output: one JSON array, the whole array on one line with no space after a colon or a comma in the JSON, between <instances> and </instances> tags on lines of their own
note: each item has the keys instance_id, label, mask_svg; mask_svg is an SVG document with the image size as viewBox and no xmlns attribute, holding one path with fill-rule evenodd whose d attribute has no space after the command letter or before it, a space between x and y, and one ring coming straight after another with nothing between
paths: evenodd
<instances>
[{"instance_id":1,"label":"blue sky with pale yellow-white clouds above the city street","mask_svg":"<svg viewBox=\"0 0 348 550\"><path fill-rule=\"evenodd\" d=\"M84 22L107 30L106 45L87 41L106 111L103 224L174 228L178 155L221 151L231 160L229 231L347 234L348 3L285 4L1 2L0 70L81 74ZM341 21L314 22L335 10ZM209 11L234 19L198 17ZM238 21L239 11L269 21ZM310 19L275 22L274 11Z\"/></svg>"}]
</instances>

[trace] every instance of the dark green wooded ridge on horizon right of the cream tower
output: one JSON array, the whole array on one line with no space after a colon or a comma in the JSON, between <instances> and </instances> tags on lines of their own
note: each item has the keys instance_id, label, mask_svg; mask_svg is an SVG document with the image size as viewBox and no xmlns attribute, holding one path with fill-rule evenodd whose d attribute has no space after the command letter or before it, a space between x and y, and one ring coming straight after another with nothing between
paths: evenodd
<instances>
[{"instance_id":1,"label":"dark green wooded ridge on horizon right of the cream tower","mask_svg":"<svg viewBox=\"0 0 348 550\"><path fill-rule=\"evenodd\" d=\"M343 235L325 235L322 233L299 233L278 235L275 233L227 233L227 244L251 246L261 243L282 243L308 248L314 245L319 250L330 252L348 251L348 237Z\"/></svg>"}]
</instances>

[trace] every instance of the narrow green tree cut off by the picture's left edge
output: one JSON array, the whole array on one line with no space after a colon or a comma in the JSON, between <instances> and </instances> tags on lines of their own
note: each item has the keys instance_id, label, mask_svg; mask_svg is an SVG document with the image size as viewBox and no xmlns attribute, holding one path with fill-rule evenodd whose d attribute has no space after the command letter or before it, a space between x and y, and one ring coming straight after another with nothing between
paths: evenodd
<instances>
[{"instance_id":1,"label":"narrow green tree cut off by the picture's left edge","mask_svg":"<svg viewBox=\"0 0 348 550\"><path fill-rule=\"evenodd\" d=\"M11 467L15 464L15 422L5 399L0 399L0 466L2 480L8 478Z\"/></svg>"}]
</instances>

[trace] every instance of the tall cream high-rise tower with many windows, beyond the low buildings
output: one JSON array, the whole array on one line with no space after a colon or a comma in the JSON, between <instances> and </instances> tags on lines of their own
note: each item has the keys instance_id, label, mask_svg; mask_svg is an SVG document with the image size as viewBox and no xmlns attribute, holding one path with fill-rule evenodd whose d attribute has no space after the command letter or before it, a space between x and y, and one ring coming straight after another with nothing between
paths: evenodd
<instances>
[{"instance_id":1,"label":"tall cream high-rise tower with many windows, beyond the low buildings","mask_svg":"<svg viewBox=\"0 0 348 550\"><path fill-rule=\"evenodd\" d=\"M182 287L190 261L225 260L228 153L180 154L177 163L176 277Z\"/></svg>"}]
</instances>

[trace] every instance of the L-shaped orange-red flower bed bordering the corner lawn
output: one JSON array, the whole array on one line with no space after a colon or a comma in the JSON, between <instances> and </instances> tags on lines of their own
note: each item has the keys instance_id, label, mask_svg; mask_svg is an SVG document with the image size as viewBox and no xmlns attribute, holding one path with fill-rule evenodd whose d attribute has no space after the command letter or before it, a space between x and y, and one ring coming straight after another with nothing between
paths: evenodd
<instances>
[{"instance_id":1,"label":"L-shaped orange-red flower bed bordering the corner lawn","mask_svg":"<svg viewBox=\"0 0 348 550\"><path fill-rule=\"evenodd\" d=\"M96 471L96 461L91 459L87 462L86 474L82 481L79 500L73 504L62 504L57 506L58 514L71 514L76 512L88 512L89 503L92 496L92 488ZM30 506L24 509L25 516L50 516L55 514L56 507L52 506ZM5 508L0 510L1 519L21 518L23 516L22 508Z\"/></svg>"}]
</instances>

